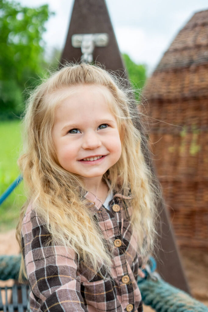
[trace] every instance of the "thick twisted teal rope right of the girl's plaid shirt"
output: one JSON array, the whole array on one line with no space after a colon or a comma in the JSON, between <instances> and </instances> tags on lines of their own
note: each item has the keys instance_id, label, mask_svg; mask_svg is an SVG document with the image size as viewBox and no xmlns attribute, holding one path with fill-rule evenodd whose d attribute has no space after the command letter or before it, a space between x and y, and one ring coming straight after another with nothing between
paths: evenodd
<instances>
[{"instance_id":1,"label":"thick twisted teal rope right of the girl's plaid shirt","mask_svg":"<svg viewBox=\"0 0 208 312\"><path fill-rule=\"evenodd\" d=\"M201 302L164 280L146 279L138 282L145 305L157 312L208 312Z\"/></svg>"}]
</instances>

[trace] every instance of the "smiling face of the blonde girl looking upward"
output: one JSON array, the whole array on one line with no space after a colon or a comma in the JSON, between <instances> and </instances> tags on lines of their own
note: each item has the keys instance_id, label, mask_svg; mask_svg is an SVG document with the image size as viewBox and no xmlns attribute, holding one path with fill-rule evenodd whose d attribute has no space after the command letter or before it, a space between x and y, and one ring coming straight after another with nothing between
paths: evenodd
<instances>
[{"instance_id":1,"label":"smiling face of the blonde girl looking upward","mask_svg":"<svg viewBox=\"0 0 208 312\"><path fill-rule=\"evenodd\" d=\"M83 178L102 177L121 156L117 122L104 93L108 98L112 95L98 85L78 85L62 92L66 97L56 109L52 132L58 161Z\"/></svg>"}]
</instances>

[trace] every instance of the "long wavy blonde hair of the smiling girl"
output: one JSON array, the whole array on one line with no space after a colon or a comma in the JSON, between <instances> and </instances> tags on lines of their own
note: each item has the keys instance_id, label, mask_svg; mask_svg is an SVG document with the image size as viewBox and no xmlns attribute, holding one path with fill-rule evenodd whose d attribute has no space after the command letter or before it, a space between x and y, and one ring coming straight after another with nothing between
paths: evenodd
<instances>
[{"instance_id":1,"label":"long wavy blonde hair of the smiling girl","mask_svg":"<svg viewBox=\"0 0 208 312\"><path fill-rule=\"evenodd\" d=\"M152 251L160 192L144 159L142 142L145 138L136 128L142 114L137 109L127 80L89 64L67 64L51 74L32 92L27 102L25 153L18 164L28 189L28 202L35 203L52 241L73 248L78 259L95 271L99 271L101 261L109 271L113 242L104 240L89 209L86 209L92 203L82 194L80 196L84 191L81 177L59 165L51 136L57 103L64 96L57 90L76 85L101 85L112 95L113 100L109 104L117 120L122 154L104 177L109 176L111 188L122 190L124 195L129 195L130 187L133 198L125 205L129 209L132 207L131 224L137 237L138 252L145 258ZM28 202L22 207L17 226L19 243ZM23 261L22 270L25 272Z\"/></svg>"}]
</instances>

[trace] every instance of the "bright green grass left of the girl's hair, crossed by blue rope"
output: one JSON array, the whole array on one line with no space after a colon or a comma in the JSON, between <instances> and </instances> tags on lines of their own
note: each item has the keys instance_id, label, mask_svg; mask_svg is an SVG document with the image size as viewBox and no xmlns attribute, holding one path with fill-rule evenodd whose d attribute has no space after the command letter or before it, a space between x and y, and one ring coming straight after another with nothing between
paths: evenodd
<instances>
[{"instance_id":1,"label":"bright green grass left of the girl's hair, crossed by blue rope","mask_svg":"<svg viewBox=\"0 0 208 312\"><path fill-rule=\"evenodd\" d=\"M22 148L20 121L0 122L0 194L20 174L17 159ZM21 183L0 206L0 231L16 227L20 207L25 202Z\"/></svg>"}]
</instances>

